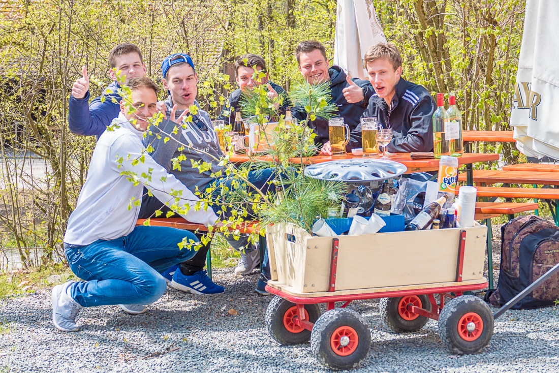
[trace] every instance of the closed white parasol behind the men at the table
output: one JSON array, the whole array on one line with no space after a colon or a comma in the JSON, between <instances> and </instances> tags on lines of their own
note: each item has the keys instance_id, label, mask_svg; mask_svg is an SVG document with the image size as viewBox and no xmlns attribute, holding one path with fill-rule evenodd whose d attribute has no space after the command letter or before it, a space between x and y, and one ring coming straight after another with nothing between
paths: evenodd
<instances>
[{"instance_id":1,"label":"closed white parasol behind the men at the table","mask_svg":"<svg viewBox=\"0 0 559 373\"><path fill-rule=\"evenodd\" d=\"M372 0L338 0L334 65L353 78L366 79L363 58L367 49L377 43L386 43L386 37Z\"/></svg>"}]
</instances>

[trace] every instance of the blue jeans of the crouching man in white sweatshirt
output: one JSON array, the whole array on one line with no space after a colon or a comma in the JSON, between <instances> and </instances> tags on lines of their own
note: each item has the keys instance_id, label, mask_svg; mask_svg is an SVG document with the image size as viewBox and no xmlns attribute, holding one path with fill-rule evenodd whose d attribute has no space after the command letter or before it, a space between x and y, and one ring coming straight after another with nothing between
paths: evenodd
<instances>
[{"instance_id":1,"label":"blue jeans of the crouching man in white sweatshirt","mask_svg":"<svg viewBox=\"0 0 559 373\"><path fill-rule=\"evenodd\" d=\"M84 280L70 285L69 294L84 307L153 303L167 289L160 273L196 253L179 249L184 237L198 242L186 230L136 226L125 237L87 246L64 244L70 269Z\"/></svg>"}]
</instances>

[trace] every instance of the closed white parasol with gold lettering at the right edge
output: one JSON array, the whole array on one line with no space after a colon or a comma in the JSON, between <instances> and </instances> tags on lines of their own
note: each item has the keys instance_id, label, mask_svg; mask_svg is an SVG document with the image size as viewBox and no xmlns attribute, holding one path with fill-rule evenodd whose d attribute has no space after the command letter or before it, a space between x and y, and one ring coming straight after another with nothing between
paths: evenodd
<instances>
[{"instance_id":1,"label":"closed white parasol with gold lettering at the right edge","mask_svg":"<svg viewBox=\"0 0 559 373\"><path fill-rule=\"evenodd\" d=\"M527 0L510 126L529 157L559 159L557 20L559 1Z\"/></svg>"}]
</instances>

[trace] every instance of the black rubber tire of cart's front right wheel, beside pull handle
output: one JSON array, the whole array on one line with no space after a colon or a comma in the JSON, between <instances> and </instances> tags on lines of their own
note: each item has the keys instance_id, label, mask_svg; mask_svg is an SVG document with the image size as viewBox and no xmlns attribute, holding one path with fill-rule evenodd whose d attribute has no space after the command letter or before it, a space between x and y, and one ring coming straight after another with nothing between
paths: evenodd
<instances>
[{"instance_id":1,"label":"black rubber tire of cart's front right wheel, beside pull handle","mask_svg":"<svg viewBox=\"0 0 559 373\"><path fill-rule=\"evenodd\" d=\"M483 322L481 334L474 341L466 341L458 332L459 320L467 313L475 313ZM439 315L439 336L444 347L455 355L478 353L493 336L493 314L489 306L473 295L458 296L444 305Z\"/></svg>"}]
</instances>

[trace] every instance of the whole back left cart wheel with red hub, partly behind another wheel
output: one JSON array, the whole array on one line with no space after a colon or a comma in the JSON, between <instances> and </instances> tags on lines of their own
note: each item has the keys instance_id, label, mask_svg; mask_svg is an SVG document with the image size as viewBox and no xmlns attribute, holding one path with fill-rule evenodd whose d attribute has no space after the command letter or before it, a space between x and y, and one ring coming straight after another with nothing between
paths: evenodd
<instances>
[{"instance_id":1,"label":"whole back left cart wheel with red hub, partly behind another wheel","mask_svg":"<svg viewBox=\"0 0 559 373\"><path fill-rule=\"evenodd\" d=\"M305 304L305 320L315 323L320 317L318 304ZM309 342L310 330L295 324L297 306L280 296L274 296L266 310L266 326L272 338L285 346Z\"/></svg>"}]
</instances>

